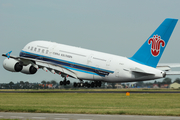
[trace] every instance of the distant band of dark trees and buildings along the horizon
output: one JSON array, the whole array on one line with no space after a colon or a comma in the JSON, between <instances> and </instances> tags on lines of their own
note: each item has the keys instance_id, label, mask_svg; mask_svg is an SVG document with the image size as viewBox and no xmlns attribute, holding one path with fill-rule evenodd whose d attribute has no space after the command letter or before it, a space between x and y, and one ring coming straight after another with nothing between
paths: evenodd
<instances>
[{"instance_id":1,"label":"distant band of dark trees and buildings along the horizon","mask_svg":"<svg viewBox=\"0 0 180 120\"><path fill-rule=\"evenodd\" d=\"M91 81L90 81L91 82ZM161 87L162 85L170 85L172 83L179 83L180 84L180 78L176 78L173 82L171 78L164 78L162 81L154 81L154 82L143 82L143 81L139 81L136 83L106 83L106 82L102 82L101 84L101 88L117 88L118 85L121 86L121 88L138 88L138 87L147 87L147 88L152 88L155 84L158 87ZM20 81L17 83L14 82L9 82L9 83L0 83L0 89L49 89L49 88L73 88L73 83L71 83L70 85L66 85L66 86L60 86L59 83L55 80L51 80L51 81L45 81L42 80L41 83L29 83L28 81L24 82L24 81Z\"/></svg>"}]
</instances>

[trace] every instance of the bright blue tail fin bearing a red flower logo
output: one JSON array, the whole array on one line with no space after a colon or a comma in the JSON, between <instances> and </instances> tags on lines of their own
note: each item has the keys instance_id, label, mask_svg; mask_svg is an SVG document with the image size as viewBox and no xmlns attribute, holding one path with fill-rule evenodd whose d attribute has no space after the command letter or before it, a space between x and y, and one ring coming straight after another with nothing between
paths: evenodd
<instances>
[{"instance_id":1,"label":"bright blue tail fin bearing a red flower logo","mask_svg":"<svg viewBox=\"0 0 180 120\"><path fill-rule=\"evenodd\" d=\"M141 64L156 67L178 19L167 18L130 58Z\"/></svg>"}]
</instances>

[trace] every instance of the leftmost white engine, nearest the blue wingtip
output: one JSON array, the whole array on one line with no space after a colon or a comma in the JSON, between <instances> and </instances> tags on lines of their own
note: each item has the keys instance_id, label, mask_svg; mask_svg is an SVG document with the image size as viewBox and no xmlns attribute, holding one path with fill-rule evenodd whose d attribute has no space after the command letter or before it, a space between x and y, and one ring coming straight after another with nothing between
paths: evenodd
<instances>
[{"instance_id":1,"label":"leftmost white engine, nearest the blue wingtip","mask_svg":"<svg viewBox=\"0 0 180 120\"><path fill-rule=\"evenodd\" d=\"M18 60L13 58L6 58L3 62L4 69L11 72L19 72L23 69L23 65L20 64Z\"/></svg>"}]
</instances>

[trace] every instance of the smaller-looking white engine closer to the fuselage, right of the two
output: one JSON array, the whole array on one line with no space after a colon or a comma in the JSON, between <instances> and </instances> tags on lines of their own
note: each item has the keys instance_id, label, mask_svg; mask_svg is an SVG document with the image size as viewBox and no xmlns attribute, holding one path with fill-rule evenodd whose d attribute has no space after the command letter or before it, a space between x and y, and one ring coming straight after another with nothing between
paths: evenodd
<instances>
[{"instance_id":1,"label":"smaller-looking white engine closer to the fuselage, right of the two","mask_svg":"<svg viewBox=\"0 0 180 120\"><path fill-rule=\"evenodd\" d=\"M24 74L35 74L37 72L37 69L31 64L29 64L27 66L23 66L21 72Z\"/></svg>"}]
</instances>

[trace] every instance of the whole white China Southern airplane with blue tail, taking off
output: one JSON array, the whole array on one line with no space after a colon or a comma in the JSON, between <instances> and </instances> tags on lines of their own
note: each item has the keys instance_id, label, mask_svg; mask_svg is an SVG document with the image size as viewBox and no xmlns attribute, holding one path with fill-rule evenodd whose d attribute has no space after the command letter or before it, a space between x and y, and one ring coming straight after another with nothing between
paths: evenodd
<instances>
[{"instance_id":1,"label":"whole white China Southern airplane with blue tail, taking off","mask_svg":"<svg viewBox=\"0 0 180 120\"><path fill-rule=\"evenodd\" d=\"M11 72L35 74L38 69L61 75L60 85L70 84L68 77L79 79L74 87L101 87L101 82L135 82L164 78L169 67L157 66L178 19L166 18L132 57L122 57L50 41L32 41L19 57L7 57L3 67ZM160 69L158 69L158 67ZM89 80L91 83L84 83Z\"/></svg>"}]
</instances>

